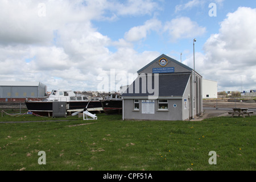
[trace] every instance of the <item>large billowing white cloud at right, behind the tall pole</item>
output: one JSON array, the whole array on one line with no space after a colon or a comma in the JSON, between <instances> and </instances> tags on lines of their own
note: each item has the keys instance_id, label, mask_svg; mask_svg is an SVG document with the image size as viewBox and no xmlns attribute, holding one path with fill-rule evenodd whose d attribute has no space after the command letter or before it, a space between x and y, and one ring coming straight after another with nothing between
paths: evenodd
<instances>
[{"instance_id":1,"label":"large billowing white cloud at right, behind the tall pole","mask_svg":"<svg viewBox=\"0 0 256 182\"><path fill-rule=\"evenodd\" d=\"M248 18L250 17L250 18ZM196 53L196 71L218 81L218 90L249 91L256 85L256 9L240 7L220 23L218 34L204 44L205 55ZM184 61L192 67L193 56Z\"/></svg>"}]
</instances>

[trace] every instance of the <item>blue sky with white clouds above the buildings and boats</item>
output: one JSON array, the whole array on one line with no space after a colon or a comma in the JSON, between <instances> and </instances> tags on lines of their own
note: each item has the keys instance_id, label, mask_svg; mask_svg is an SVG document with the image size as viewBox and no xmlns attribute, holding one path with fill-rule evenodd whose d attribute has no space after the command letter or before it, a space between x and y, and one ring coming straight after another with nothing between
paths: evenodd
<instances>
[{"instance_id":1,"label":"blue sky with white clouds above the buildings and boats","mask_svg":"<svg viewBox=\"0 0 256 182\"><path fill-rule=\"evenodd\" d=\"M162 54L193 68L196 39L195 70L219 92L256 89L256 1L1 0L0 7L1 81L118 91Z\"/></svg>"}]
</instances>

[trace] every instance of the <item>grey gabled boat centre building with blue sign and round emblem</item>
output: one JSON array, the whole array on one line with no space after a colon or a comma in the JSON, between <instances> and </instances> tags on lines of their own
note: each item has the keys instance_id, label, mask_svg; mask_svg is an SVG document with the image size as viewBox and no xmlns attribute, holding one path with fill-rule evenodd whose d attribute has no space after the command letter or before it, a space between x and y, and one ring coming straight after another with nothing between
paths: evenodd
<instances>
[{"instance_id":1,"label":"grey gabled boat centre building with blue sign and round emblem","mask_svg":"<svg viewBox=\"0 0 256 182\"><path fill-rule=\"evenodd\" d=\"M185 121L203 113L202 77L187 65L161 55L137 73L122 94L123 120Z\"/></svg>"}]
</instances>

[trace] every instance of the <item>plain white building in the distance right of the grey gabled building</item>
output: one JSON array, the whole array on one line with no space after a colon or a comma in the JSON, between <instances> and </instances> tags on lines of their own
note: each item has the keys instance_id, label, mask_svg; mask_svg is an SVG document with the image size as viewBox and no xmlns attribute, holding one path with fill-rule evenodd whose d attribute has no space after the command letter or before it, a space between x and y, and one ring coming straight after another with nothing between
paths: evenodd
<instances>
[{"instance_id":1,"label":"plain white building in the distance right of the grey gabled building","mask_svg":"<svg viewBox=\"0 0 256 182\"><path fill-rule=\"evenodd\" d=\"M203 79L203 98L218 98L218 83Z\"/></svg>"}]
</instances>

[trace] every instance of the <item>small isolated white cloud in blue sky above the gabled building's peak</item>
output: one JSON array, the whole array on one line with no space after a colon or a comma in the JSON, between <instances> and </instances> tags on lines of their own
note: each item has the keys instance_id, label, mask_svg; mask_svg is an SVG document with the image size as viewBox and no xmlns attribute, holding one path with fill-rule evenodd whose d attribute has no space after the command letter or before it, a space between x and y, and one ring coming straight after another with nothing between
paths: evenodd
<instances>
[{"instance_id":1,"label":"small isolated white cloud in blue sky above the gabled building's peak","mask_svg":"<svg viewBox=\"0 0 256 182\"><path fill-rule=\"evenodd\" d=\"M172 19L170 22L166 22L164 31L168 31L171 40L175 41L177 39L202 36L206 32L206 28L199 26L199 24L193 22L188 17L180 17Z\"/></svg>"}]
</instances>

